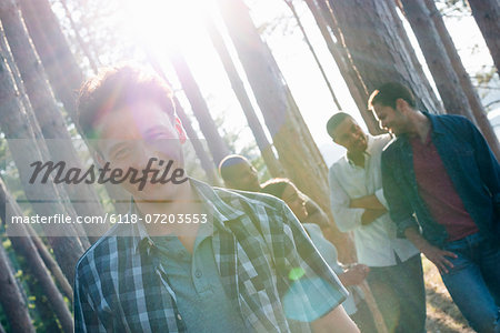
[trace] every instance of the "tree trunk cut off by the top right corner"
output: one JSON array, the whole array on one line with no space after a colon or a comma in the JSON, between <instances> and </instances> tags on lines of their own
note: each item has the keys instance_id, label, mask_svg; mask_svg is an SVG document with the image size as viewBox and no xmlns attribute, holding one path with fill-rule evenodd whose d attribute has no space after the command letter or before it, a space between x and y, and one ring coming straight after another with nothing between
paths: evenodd
<instances>
[{"instance_id":1,"label":"tree trunk cut off by the top right corner","mask_svg":"<svg viewBox=\"0 0 500 333\"><path fill-rule=\"evenodd\" d=\"M472 16L493 58L500 74L500 2L499 0L468 0Z\"/></svg>"}]
</instances>

